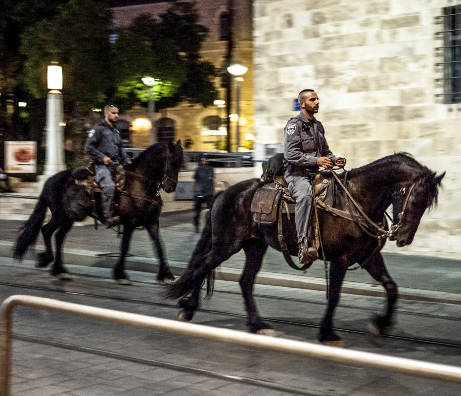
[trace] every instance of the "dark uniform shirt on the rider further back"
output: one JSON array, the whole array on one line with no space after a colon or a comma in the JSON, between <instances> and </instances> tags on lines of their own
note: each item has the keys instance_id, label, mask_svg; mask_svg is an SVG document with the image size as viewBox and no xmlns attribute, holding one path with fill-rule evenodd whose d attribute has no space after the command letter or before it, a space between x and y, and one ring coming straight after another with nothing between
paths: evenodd
<instances>
[{"instance_id":1,"label":"dark uniform shirt on the rider further back","mask_svg":"<svg viewBox=\"0 0 461 396\"><path fill-rule=\"evenodd\" d=\"M105 120L94 125L92 130L88 132L85 152L96 164L102 164L102 160L106 156L121 164L130 160L123 147L120 132L117 128L109 127Z\"/></svg>"}]
</instances>

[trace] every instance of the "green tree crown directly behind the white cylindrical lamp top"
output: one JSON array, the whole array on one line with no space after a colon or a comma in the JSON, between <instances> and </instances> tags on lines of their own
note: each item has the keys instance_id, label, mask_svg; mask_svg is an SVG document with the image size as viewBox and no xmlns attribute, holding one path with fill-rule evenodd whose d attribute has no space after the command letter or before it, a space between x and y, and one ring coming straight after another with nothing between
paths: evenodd
<instances>
[{"instance_id":1,"label":"green tree crown directly behind the white cylindrical lamp top","mask_svg":"<svg viewBox=\"0 0 461 396\"><path fill-rule=\"evenodd\" d=\"M45 96L46 66L57 61L63 67L66 100L94 104L110 86L110 23L110 10L100 2L70 0L58 7L52 20L27 28L20 46L24 85L35 97Z\"/></svg>"}]
</instances>

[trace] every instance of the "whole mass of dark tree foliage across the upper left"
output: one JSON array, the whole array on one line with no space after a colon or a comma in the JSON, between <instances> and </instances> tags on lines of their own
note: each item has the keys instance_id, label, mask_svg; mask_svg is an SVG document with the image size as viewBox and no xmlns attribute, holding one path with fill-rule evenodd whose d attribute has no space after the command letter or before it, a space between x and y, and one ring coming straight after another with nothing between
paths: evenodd
<instances>
[{"instance_id":1,"label":"whole mass of dark tree foliage across the upper left","mask_svg":"<svg viewBox=\"0 0 461 396\"><path fill-rule=\"evenodd\" d=\"M107 102L128 109L147 103L142 82L154 77L156 108L182 101L211 105L216 71L200 59L207 29L194 2L172 1L158 18L141 15L109 43L109 0L0 0L0 91L45 98L46 68L63 68L66 118L87 119ZM29 100L28 100L29 101ZM1 103L0 103L1 108ZM35 120L31 116L31 125ZM68 122L66 135L84 123Z\"/></svg>"}]
</instances>

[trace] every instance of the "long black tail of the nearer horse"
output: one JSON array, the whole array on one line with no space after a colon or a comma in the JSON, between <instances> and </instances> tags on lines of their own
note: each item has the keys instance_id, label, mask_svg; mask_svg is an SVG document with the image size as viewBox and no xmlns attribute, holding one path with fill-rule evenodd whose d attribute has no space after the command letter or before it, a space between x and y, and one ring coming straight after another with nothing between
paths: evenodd
<instances>
[{"instance_id":1,"label":"long black tail of the nearer horse","mask_svg":"<svg viewBox=\"0 0 461 396\"><path fill-rule=\"evenodd\" d=\"M194 282L196 282L194 279L195 275L197 272L203 270L203 262L206 260L206 255L211 251L211 210L216 197L222 193L223 191L220 191L215 194L211 208L206 214L202 235L197 245L195 245L189 264L180 278L171 285L168 285L166 293L167 298L175 300L180 299L190 293L194 288ZM207 295L210 295L213 292L214 270L208 270L205 276L207 282Z\"/></svg>"}]
</instances>

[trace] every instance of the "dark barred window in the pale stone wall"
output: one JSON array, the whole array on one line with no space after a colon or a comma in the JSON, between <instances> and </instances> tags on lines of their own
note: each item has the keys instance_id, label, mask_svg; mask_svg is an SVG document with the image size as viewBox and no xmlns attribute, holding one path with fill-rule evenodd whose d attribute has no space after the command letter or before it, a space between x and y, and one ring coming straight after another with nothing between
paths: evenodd
<instances>
[{"instance_id":1,"label":"dark barred window in the pale stone wall","mask_svg":"<svg viewBox=\"0 0 461 396\"><path fill-rule=\"evenodd\" d=\"M444 68L444 102L461 103L461 5L445 7L443 15L437 17L443 20L444 61L437 63Z\"/></svg>"}]
</instances>

